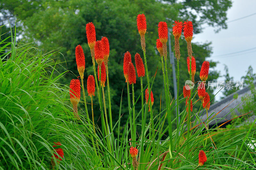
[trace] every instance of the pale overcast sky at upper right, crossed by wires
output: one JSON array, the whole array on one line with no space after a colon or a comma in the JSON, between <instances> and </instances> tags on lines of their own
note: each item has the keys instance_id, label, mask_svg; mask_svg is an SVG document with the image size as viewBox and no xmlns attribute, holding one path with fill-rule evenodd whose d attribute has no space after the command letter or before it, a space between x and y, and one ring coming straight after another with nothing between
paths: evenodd
<instances>
[{"instance_id":1,"label":"pale overcast sky at upper right, crossed by wires","mask_svg":"<svg viewBox=\"0 0 256 170\"><path fill-rule=\"evenodd\" d=\"M240 81L250 65L253 72L256 72L256 0L233 0L232 2L232 7L227 12L227 22L254 15L228 23L228 28L219 33L214 33L213 27L206 27L203 33L193 36L192 41L211 41L213 53L209 60L219 62L216 70L220 70L221 75L224 75L226 73L224 64L226 64L230 76L234 77L235 81ZM225 80L225 78L221 77L218 80ZM218 100L220 96L219 94L216 99Z\"/></svg>"}]
</instances>

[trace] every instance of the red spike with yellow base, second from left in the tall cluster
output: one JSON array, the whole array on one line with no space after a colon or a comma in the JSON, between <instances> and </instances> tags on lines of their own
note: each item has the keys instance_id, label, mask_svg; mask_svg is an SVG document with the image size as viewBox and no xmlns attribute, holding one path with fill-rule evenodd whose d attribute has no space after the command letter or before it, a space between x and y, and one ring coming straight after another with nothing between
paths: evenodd
<instances>
[{"instance_id":1,"label":"red spike with yellow base, second from left in the tall cluster","mask_svg":"<svg viewBox=\"0 0 256 170\"><path fill-rule=\"evenodd\" d=\"M77 70L81 78L84 78L84 69L85 69L84 50L80 45L76 46L75 54L76 54Z\"/></svg>"}]
</instances>

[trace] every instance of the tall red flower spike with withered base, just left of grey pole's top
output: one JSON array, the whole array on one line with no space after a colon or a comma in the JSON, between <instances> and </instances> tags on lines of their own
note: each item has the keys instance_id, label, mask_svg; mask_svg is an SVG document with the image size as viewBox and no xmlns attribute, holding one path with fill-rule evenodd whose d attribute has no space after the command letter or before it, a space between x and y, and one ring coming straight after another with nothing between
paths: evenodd
<instances>
[{"instance_id":1,"label":"tall red flower spike with withered base, just left of grey pole's top","mask_svg":"<svg viewBox=\"0 0 256 170\"><path fill-rule=\"evenodd\" d=\"M166 22L159 22L158 23L158 36L160 41L163 44L163 55L164 55L164 60L166 60L167 57L167 46L166 46L166 42L168 39L168 27Z\"/></svg>"}]
</instances>

